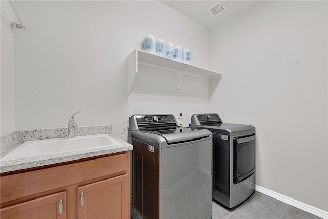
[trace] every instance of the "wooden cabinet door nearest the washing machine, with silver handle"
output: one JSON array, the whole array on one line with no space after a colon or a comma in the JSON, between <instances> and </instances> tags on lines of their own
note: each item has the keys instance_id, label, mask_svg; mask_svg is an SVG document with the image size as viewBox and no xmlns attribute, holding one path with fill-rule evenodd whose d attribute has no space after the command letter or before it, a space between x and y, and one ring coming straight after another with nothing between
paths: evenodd
<instances>
[{"instance_id":1,"label":"wooden cabinet door nearest the washing machine, with silver handle","mask_svg":"<svg viewBox=\"0 0 328 219\"><path fill-rule=\"evenodd\" d=\"M109 178L77 188L78 219L128 219L129 174Z\"/></svg>"}]
</instances>

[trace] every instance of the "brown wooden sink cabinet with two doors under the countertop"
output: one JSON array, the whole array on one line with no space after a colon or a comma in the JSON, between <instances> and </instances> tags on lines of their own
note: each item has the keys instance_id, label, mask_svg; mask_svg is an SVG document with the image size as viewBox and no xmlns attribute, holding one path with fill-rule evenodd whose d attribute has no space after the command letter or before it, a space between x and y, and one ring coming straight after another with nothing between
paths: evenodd
<instances>
[{"instance_id":1,"label":"brown wooden sink cabinet with two doors under the countertop","mask_svg":"<svg viewBox=\"0 0 328 219\"><path fill-rule=\"evenodd\" d=\"M1 219L130 219L130 151L2 174L0 190Z\"/></svg>"}]
</instances>

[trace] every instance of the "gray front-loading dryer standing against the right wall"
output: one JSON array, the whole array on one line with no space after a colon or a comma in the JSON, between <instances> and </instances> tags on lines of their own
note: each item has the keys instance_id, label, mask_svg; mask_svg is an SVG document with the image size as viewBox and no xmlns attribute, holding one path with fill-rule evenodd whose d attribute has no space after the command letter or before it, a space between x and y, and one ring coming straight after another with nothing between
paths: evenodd
<instances>
[{"instance_id":1,"label":"gray front-loading dryer standing against the right wall","mask_svg":"<svg viewBox=\"0 0 328 219\"><path fill-rule=\"evenodd\" d=\"M223 123L218 114L194 114L191 127L213 133L213 201L240 206L255 191L255 127Z\"/></svg>"}]
</instances>

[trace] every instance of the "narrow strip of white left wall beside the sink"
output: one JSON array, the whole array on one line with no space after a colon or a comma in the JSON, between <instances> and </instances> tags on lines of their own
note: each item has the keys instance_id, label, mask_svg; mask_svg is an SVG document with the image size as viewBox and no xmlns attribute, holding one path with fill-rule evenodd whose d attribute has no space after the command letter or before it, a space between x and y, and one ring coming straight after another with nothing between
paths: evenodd
<instances>
[{"instance_id":1,"label":"narrow strip of white left wall beside the sink","mask_svg":"<svg viewBox=\"0 0 328 219\"><path fill-rule=\"evenodd\" d=\"M8 1L0 1L0 135L15 130L15 14Z\"/></svg>"}]
</instances>

